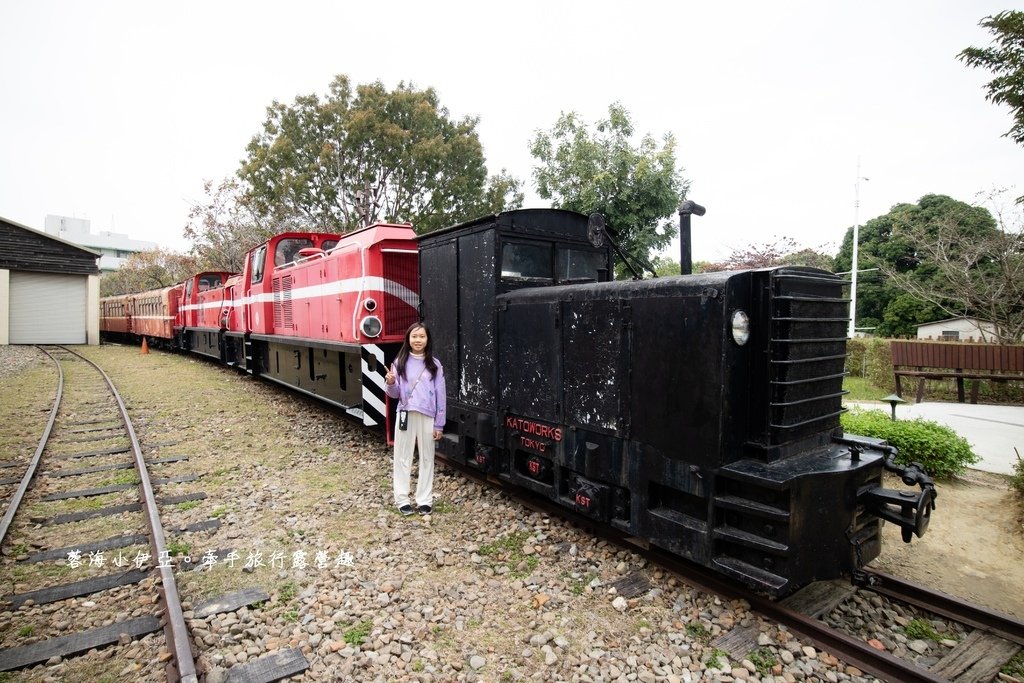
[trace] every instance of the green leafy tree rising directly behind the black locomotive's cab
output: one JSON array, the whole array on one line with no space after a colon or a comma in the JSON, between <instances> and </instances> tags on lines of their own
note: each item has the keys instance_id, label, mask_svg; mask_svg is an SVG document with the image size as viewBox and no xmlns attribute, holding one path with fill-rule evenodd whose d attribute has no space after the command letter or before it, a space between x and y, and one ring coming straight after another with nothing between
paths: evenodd
<instances>
[{"instance_id":1,"label":"green leafy tree rising directly behind the black locomotive's cab","mask_svg":"<svg viewBox=\"0 0 1024 683\"><path fill-rule=\"evenodd\" d=\"M563 114L530 143L537 193L556 208L604 214L627 253L649 262L677 233L672 218L689 183L676 168L676 139L660 146L649 134L634 146L633 122L620 104L593 130L575 113Z\"/></svg>"}]
</instances>

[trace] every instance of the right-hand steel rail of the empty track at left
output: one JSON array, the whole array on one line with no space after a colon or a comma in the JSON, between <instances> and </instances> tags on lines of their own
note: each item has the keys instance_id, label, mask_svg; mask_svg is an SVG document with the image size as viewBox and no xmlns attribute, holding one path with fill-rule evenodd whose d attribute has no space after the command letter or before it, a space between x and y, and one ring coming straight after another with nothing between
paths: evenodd
<instances>
[{"instance_id":1,"label":"right-hand steel rail of the empty track at left","mask_svg":"<svg viewBox=\"0 0 1024 683\"><path fill-rule=\"evenodd\" d=\"M167 638L168 646L172 650L173 664L168 665L168 680L180 680L183 683L198 683L199 677L196 674L196 659L193 655L191 644L188 640L188 628L185 626L184 614L181 610L181 599L178 596L177 584L174 581L174 572L171 566L163 565L161 557L167 557L167 542L164 536L164 528L160 524L160 512L157 509L157 499L153 490L153 482L150 481L150 472L145 467L145 460L142 458L142 449L139 446L135 428L128 417L128 409L125 407L121 394L115 388L111 378L103 370L84 355L66 349L82 358L96 369L99 375L106 382L111 392L118 403L118 411L121 420L124 422L128 437L131 440L132 457L135 460L135 469L138 471L139 487L142 490L142 507L145 511L146 525L150 527L150 550L157 561L157 569L160 573L160 592L164 598L164 635Z\"/></svg>"}]
</instances>

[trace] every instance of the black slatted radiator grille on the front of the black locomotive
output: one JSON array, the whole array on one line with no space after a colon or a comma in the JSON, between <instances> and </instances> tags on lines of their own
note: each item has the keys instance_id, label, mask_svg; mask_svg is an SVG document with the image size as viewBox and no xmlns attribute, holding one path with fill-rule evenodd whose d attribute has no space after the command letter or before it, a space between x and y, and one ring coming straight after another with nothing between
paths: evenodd
<instances>
[{"instance_id":1,"label":"black slatted radiator grille on the front of the black locomotive","mask_svg":"<svg viewBox=\"0 0 1024 683\"><path fill-rule=\"evenodd\" d=\"M769 430L773 444L839 427L849 299L844 281L814 270L772 274Z\"/></svg>"}]
</instances>

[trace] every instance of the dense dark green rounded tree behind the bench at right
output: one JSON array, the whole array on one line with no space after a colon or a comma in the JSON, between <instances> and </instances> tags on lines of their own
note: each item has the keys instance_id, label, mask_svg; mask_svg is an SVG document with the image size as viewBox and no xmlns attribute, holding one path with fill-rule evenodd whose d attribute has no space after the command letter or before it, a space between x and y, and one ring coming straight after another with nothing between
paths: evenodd
<instances>
[{"instance_id":1,"label":"dense dark green rounded tree behind the bench at right","mask_svg":"<svg viewBox=\"0 0 1024 683\"><path fill-rule=\"evenodd\" d=\"M949 226L947 237L962 245L980 243L996 231L986 209L944 195L926 195L918 204L898 204L860 226L858 327L873 327L881 336L911 336L922 323L981 314L975 307L957 306L945 295L926 298L922 294L926 289L933 294L950 292L943 259L931 252L943 225ZM836 257L837 270L851 269L852 252L850 227Z\"/></svg>"}]
</instances>

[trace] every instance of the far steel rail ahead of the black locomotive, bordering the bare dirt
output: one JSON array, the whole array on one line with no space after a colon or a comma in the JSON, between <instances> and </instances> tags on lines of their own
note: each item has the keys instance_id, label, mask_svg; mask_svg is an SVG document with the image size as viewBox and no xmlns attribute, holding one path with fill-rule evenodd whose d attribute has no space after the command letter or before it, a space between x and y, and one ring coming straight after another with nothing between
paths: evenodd
<instances>
[{"instance_id":1,"label":"far steel rail ahead of the black locomotive, bordering the bare dirt","mask_svg":"<svg viewBox=\"0 0 1024 683\"><path fill-rule=\"evenodd\" d=\"M854 583L922 609L1024 645L1024 622L876 569L861 569Z\"/></svg>"}]
</instances>

